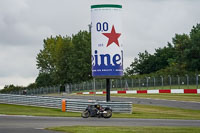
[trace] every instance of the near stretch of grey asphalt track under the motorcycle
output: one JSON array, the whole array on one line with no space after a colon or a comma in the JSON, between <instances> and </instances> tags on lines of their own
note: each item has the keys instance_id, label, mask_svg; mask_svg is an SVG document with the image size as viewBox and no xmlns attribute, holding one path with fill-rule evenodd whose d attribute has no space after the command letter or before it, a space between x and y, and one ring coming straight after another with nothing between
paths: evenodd
<instances>
[{"instance_id":1,"label":"near stretch of grey asphalt track under the motorcycle","mask_svg":"<svg viewBox=\"0 0 200 133\"><path fill-rule=\"evenodd\" d=\"M44 130L56 126L200 126L200 120L35 117L0 115L0 133L56 133Z\"/></svg>"}]
</instances>

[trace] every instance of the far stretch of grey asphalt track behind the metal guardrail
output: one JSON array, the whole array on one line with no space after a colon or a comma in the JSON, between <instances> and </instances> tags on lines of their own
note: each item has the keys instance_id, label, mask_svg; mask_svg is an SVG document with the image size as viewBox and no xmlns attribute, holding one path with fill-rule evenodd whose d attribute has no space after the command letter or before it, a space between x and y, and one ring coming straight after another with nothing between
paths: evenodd
<instances>
[{"instance_id":1,"label":"far stretch of grey asphalt track behind the metal guardrail","mask_svg":"<svg viewBox=\"0 0 200 133\"><path fill-rule=\"evenodd\" d=\"M78 96L78 95L66 95L63 96L70 99L95 99L105 101L105 96ZM187 102L187 101L176 101L176 100L161 100L161 99L150 99L150 98L124 98L124 97L111 97L112 101L126 101L132 102L133 104L147 104L157 106L176 107L183 109L200 110L200 102Z\"/></svg>"}]
</instances>

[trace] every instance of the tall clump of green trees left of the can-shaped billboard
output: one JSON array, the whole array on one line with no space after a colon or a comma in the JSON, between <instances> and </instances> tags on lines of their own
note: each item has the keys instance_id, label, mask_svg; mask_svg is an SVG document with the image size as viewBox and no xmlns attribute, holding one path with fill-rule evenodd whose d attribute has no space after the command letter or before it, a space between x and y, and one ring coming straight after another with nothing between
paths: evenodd
<instances>
[{"instance_id":1,"label":"tall clump of green trees left of the can-shaped billboard","mask_svg":"<svg viewBox=\"0 0 200 133\"><path fill-rule=\"evenodd\" d=\"M80 31L72 37L50 37L37 55L38 86L78 83L91 79L91 35Z\"/></svg>"}]
</instances>

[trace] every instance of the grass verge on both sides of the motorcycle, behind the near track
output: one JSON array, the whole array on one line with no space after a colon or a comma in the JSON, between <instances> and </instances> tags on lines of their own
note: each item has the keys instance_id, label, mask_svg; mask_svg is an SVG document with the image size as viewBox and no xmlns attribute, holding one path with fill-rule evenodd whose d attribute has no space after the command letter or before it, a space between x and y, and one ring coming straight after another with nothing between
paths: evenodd
<instances>
[{"instance_id":1,"label":"grass verge on both sides of the motorcycle, behind the near track","mask_svg":"<svg viewBox=\"0 0 200 133\"><path fill-rule=\"evenodd\" d=\"M22 106L22 105L9 105L9 104L0 104L0 114L80 117L80 113L61 112L61 109L51 109L51 108ZM200 120L200 110L189 110L180 108L134 104L132 114L113 113L112 118Z\"/></svg>"}]
</instances>

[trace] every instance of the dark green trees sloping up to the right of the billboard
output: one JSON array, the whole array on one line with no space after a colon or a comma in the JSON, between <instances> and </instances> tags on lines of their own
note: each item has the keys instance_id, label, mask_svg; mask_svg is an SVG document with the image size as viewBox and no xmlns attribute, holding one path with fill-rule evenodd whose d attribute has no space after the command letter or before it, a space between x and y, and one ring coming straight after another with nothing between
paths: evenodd
<instances>
[{"instance_id":1,"label":"dark green trees sloping up to the right of the billboard","mask_svg":"<svg viewBox=\"0 0 200 133\"><path fill-rule=\"evenodd\" d=\"M200 24L193 26L189 35L176 34L173 44L158 48L154 54L139 53L126 76L136 74L184 75L200 71Z\"/></svg>"}]
</instances>

